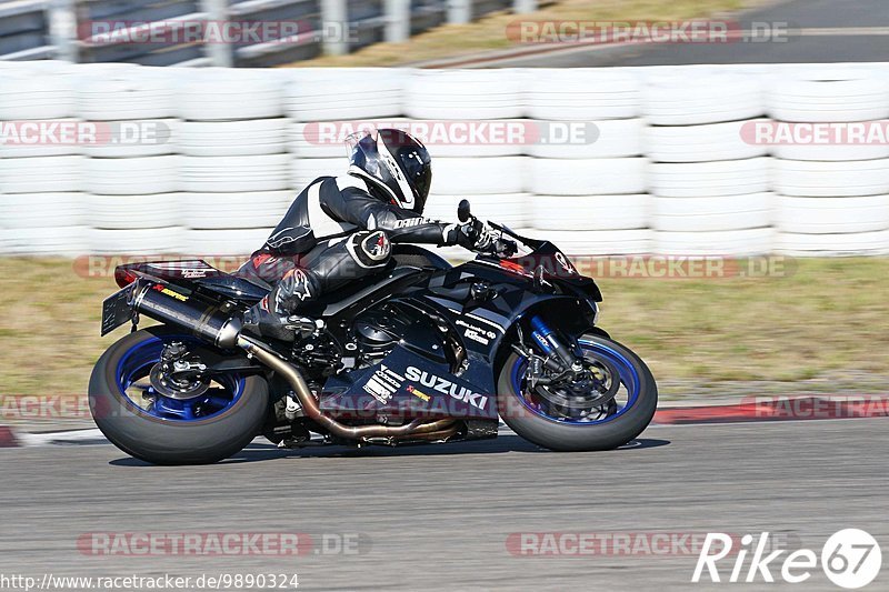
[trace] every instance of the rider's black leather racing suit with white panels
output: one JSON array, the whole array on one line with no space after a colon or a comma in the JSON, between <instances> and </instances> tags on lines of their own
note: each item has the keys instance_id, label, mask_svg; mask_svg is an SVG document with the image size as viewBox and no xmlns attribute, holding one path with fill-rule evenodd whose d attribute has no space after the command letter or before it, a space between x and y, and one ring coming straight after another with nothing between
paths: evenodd
<instances>
[{"instance_id":1,"label":"rider's black leather racing suit with white panels","mask_svg":"<svg viewBox=\"0 0 889 592\"><path fill-rule=\"evenodd\" d=\"M263 310L291 314L301 302L378 271L389 262L390 242L458 243L457 224L428 220L371 191L358 177L321 177L297 197L239 271L276 284Z\"/></svg>"}]
</instances>

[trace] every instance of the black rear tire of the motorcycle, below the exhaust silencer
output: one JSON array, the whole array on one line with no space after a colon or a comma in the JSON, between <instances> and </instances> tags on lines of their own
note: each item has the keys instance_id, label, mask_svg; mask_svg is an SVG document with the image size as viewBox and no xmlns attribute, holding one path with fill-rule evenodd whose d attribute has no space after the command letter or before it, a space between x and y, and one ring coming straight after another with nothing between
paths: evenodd
<instances>
[{"instance_id":1,"label":"black rear tire of the motorcycle, below the exhaust silencer","mask_svg":"<svg viewBox=\"0 0 889 592\"><path fill-rule=\"evenodd\" d=\"M259 434L266 419L268 383L257 375L232 378L230 401L207 417L176 419L133 403L127 392L132 377L153 365L154 351L164 343L193 340L182 333L169 327L130 333L102 354L90 378L96 425L120 450L152 464L208 464L227 459ZM193 347L210 349L200 343Z\"/></svg>"}]
</instances>

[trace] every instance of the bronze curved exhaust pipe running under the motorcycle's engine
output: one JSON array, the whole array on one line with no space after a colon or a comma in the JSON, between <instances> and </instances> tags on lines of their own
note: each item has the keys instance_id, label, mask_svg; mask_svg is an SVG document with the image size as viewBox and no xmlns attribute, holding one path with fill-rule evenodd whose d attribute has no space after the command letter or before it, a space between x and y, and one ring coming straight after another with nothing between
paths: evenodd
<instances>
[{"instance_id":1,"label":"bronze curved exhaust pipe running under the motorcycle's engine","mask_svg":"<svg viewBox=\"0 0 889 592\"><path fill-rule=\"evenodd\" d=\"M431 434L441 432L455 423L455 420L450 419L430 422L423 422L423 420L418 419L399 427L344 425L333 418L329 418L321 413L321 409L318 407L318 400L312 394L309 385L306 384L306 380L302 378L302 374L300 374L299 370L281 360L274 353L266 350L259 343L256 343L243 335L238 338L237 344L248 354L253 355L257 360L281 374L288 384L290 384L290 387L293 389L293 392L296 393L297 399L299 399L306 415L339 438L347 440L363 440L368 438L396 438L402 435Z\"/></svg>"}]
</instances>

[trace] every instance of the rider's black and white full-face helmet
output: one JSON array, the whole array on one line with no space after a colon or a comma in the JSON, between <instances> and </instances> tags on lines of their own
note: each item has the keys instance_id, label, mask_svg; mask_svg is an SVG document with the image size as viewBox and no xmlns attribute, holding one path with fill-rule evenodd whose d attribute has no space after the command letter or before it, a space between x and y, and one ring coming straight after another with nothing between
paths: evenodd
<instances>
[{"instance_id":1,"label":"rider's black and white full-face helmet","mask_svg":"<svg viewBox=\"0 0 889 592\"><path fill-rule=\"evenodd\" d=\"M399 208L421 214L432 184L432 158L426 147L401 130L359 132L346 140L349 173L372 183Z\"/></svg>"}]
</instances>

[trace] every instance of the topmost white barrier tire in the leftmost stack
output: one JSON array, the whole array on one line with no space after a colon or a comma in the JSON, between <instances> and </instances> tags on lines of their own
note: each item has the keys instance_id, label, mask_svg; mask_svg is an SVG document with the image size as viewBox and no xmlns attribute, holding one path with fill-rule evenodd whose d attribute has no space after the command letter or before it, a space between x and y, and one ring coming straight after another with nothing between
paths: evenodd
<instances>
[{"instance_id":1,"label":"topmost white barrier tire in the leftmost stack","mask_svg":"<svg viewBox=\"0 0 889 592\"><path fill-rule=\"evenodd\" d=\"M22 68L0 78L0 121L74 117L74 83L68 76L47 76Z\"/></svg>"}]
</instances>

